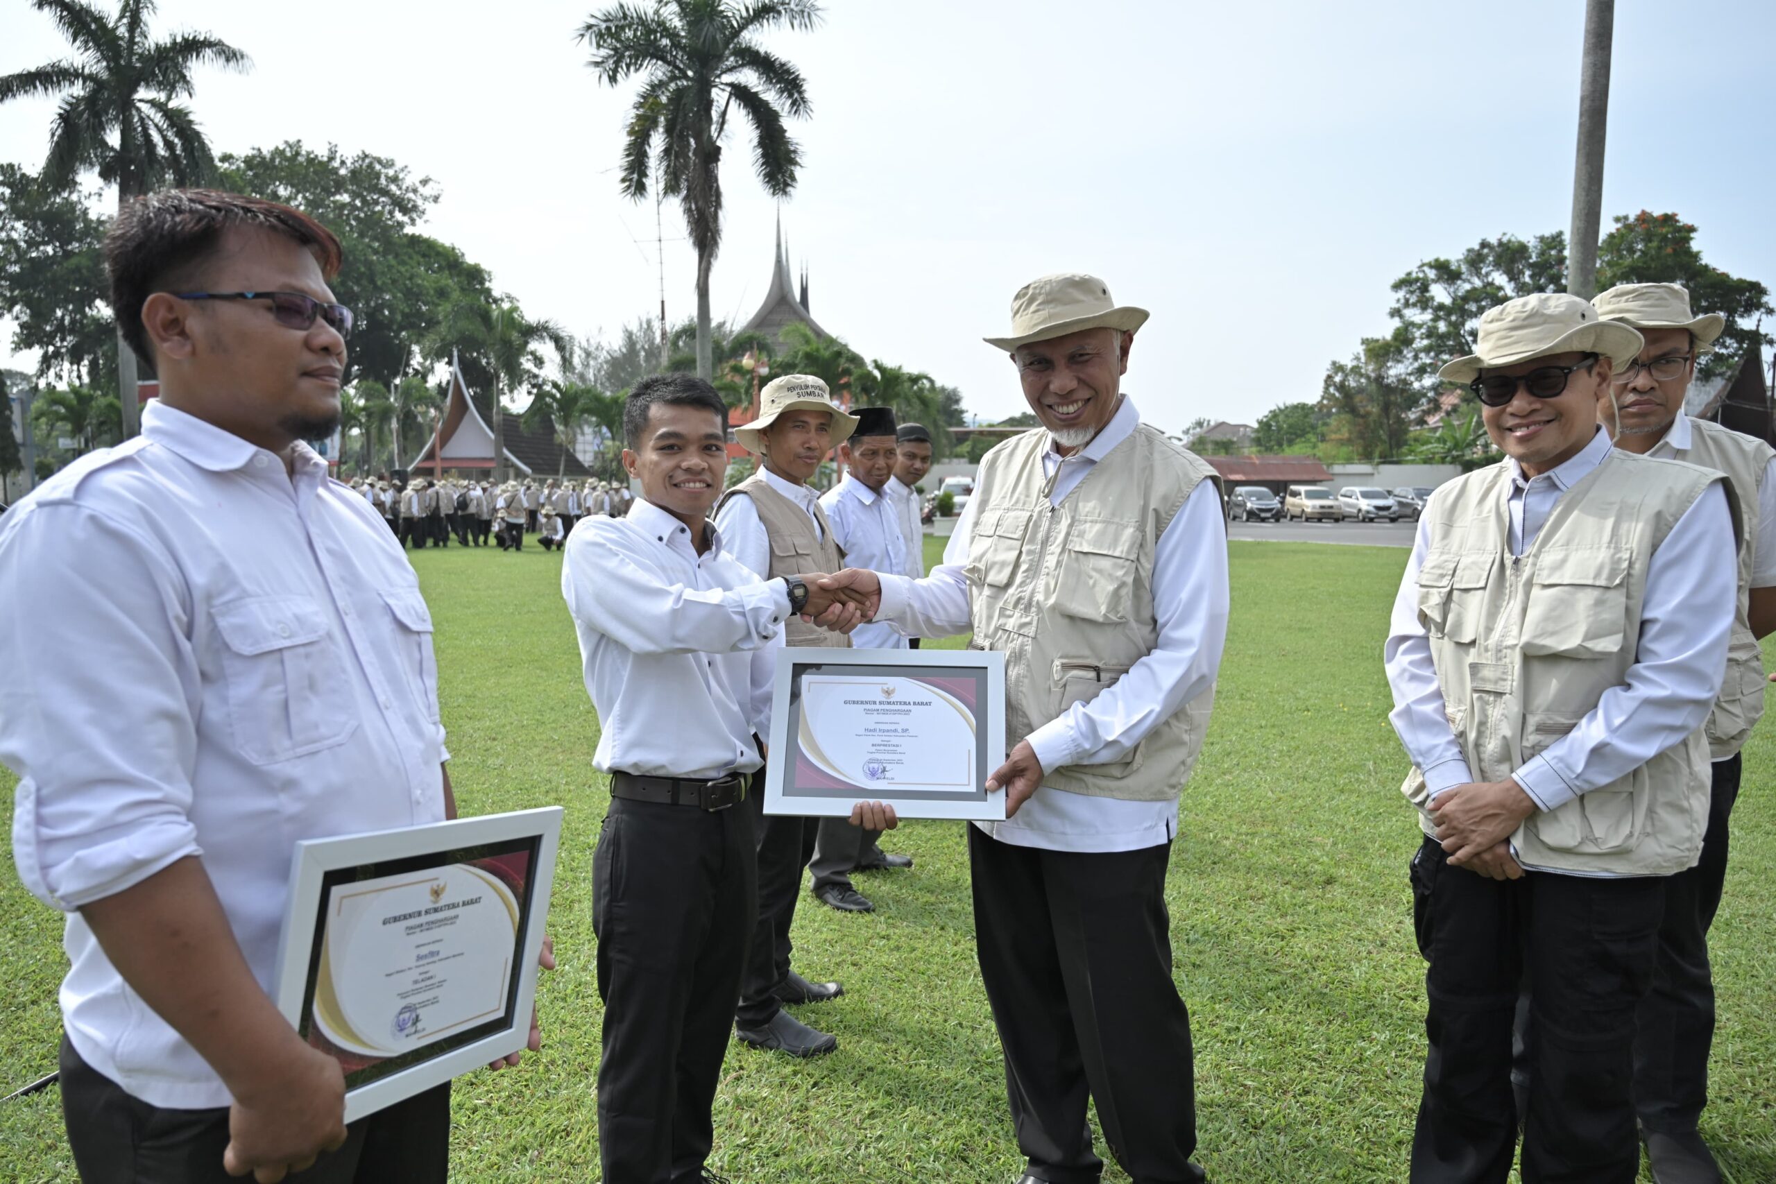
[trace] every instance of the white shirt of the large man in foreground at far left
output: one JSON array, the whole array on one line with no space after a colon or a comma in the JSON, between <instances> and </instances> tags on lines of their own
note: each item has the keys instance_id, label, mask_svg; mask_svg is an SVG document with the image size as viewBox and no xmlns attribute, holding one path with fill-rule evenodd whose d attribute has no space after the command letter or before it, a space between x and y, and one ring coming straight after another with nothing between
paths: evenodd
<instances>
[{"instance_id":1,"label":"white shirt of the large man in foreground at far left","mask_svg":"<svg viewBox=\"0 0 1776 1184\"><path fill-rule=\"evenodd\" d=\"M155 1106L222 1079L76 912L201 856L270 991L297 840L444 818L432 616L387 524L327 463L165 403L0 518L0 760L12 859L67 911L80 1056ZM202 967L192 967L202 973Z\"/></svg>"}]
</instances>

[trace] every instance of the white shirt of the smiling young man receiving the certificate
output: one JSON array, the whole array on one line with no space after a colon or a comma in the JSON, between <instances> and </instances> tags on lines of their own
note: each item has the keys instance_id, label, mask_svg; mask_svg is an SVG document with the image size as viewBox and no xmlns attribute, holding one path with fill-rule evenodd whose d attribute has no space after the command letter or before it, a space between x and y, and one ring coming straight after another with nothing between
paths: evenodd
<instances>
[{"instance_id":1,"label":"white shirt of the smiling young man receiving the certificate","mask_svg":"<svg viewBox=\"0 0 1776 1184\"><path fill-rule=\"evenodd\" d=\"M567 538L561 595L599 710L600 772L707 779L764 763L753 733L771 735L789 586L710 534L700 556L678 518L636 499Z\"/></svg>"}]
</instances>

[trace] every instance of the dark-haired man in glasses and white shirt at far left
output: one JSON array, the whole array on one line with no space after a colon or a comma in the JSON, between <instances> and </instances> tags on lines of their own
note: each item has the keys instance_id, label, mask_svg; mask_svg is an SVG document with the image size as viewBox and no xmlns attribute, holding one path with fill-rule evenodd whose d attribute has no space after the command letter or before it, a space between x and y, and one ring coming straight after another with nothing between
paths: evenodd
<instances>
[{"instance_id":1,"label":"dark-haired man in glasses and white shirt at far left","mask_svg":"<svg viewBox=\"0 0 1776 1184\"><path fill-rule=\"evenodd\" d=\"M266 994L297 840L455 817L424 598L302 444L339 424L339 243L162 192L119 211L107 266L160 399L0 525L0 760L20 877L67 912L75 1166L442 1184L449 1086L348 1129L339 1062Z\"/></svg>"}]
</instances>

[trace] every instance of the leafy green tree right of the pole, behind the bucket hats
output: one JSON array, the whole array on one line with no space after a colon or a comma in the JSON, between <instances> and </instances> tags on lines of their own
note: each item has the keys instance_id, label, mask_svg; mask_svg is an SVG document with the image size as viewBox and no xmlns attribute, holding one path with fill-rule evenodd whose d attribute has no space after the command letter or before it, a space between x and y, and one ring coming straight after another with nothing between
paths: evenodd
<instances>
[{"instance_id":1,"label":"leafy green tree right of the pole, behind the bucket hats","mask_svg":"<svg viewBox=\"0 0 1776 1184\"><path fill-rule=\"evenodd\" d=\"M1726 318L1726 332L1700 359L1698 373L1703 378L1732 371L1740 357L1769 341L1758 321L1776 316L1771 289L1703 263L1694 225L1675 213L1646 209L1616 215L1613 222L1597 256L1598 289L1616 284L1682 284L1689 289L1693 311Z\"/></svg>"}]
</instances>

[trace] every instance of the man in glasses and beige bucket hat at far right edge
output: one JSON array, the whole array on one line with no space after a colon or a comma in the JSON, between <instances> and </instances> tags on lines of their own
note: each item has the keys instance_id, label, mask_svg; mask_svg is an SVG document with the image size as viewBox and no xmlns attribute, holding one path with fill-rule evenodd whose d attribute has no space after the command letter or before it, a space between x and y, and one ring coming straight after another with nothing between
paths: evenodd
<instances>
[{"instance_id":1,"label":"man in glasses and beige bucket hat at far right edge","mask_svg":"<svg viewBox=\"0 0 1776 1184\"><path fill-rule=\"evenodd\" d=\"M1639 330L1645 344L1616 371L1604 399L1604 424L1616 447L1685 460L1726 474L1744 518L1737 612L1726 682L1709 715L1709 829L1701 859L1666 880L1664 921L1653 989L1641 1001L1634 1037L1634 1111L1659 1184L1710 1184L1721 1172L1698 1133L1709 1101L1714 1042L1714 978L1709 927L1726 880L1726 827L1739 797L1740 756L1764 714L1764 655L1758 639L1776 628L1776 449L1684 414L1696 355L1726 328L1719 312L1694 316L1678 284L1621 284L1595 302L1598 316ZM1721 570L1717 579L1730 573Z\"/></svg>"}]
</instances>

